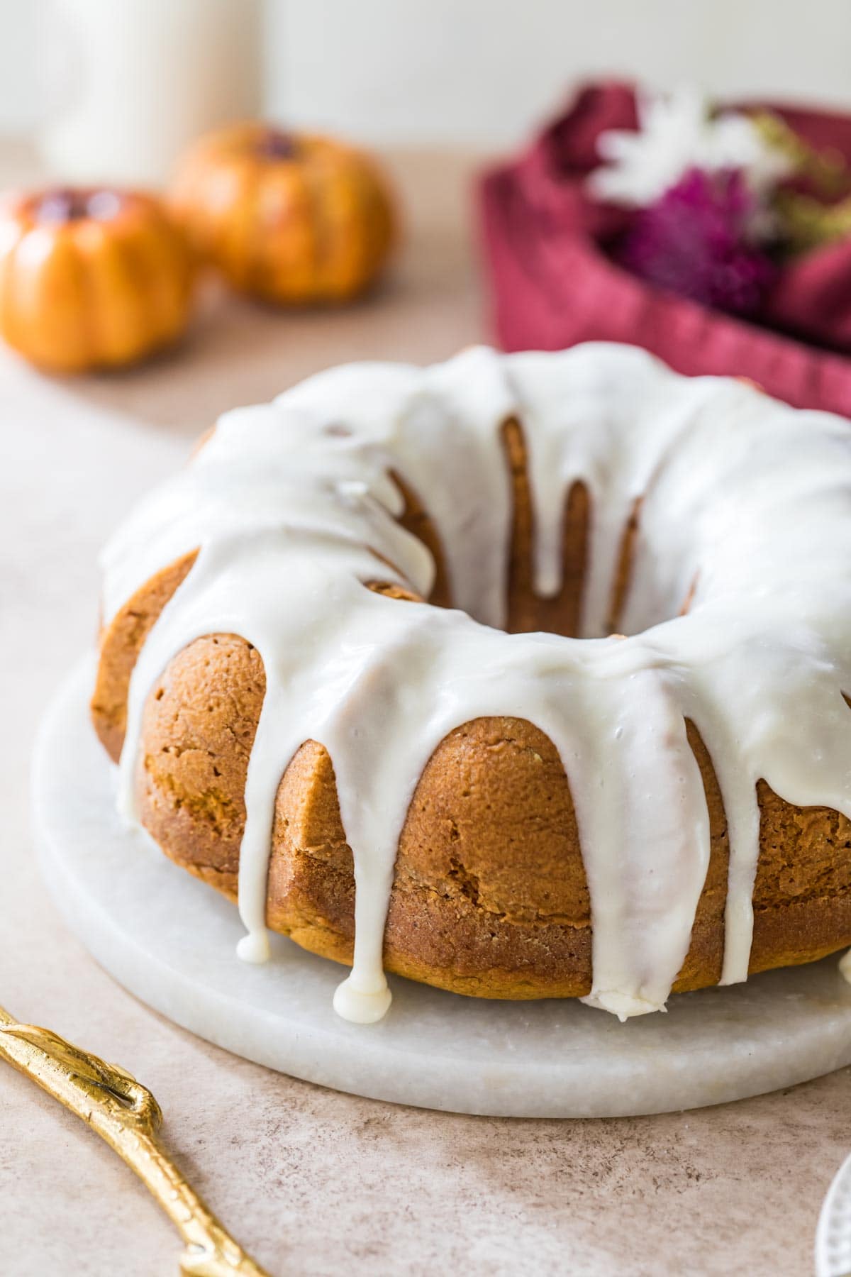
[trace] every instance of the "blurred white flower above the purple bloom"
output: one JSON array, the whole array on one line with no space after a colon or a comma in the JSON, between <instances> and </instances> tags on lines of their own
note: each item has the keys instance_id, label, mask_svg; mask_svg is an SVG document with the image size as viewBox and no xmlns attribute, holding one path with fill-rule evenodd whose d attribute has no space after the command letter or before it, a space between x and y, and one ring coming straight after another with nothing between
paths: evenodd
<instances>
[{"instance_id":1,"label":"blurred white flower above the purple bloom","mask_svg":"<svg viewBox=\"0 0 851 1277\"><path fill-rule=\"evenodd\" d=\"M792 169L786 153L768 146L749 116L739 111L712 116L709 101L694 88L639 93L638 124L638 132L600 134L597 152L607 162L588 178L597 199L642 208L689 169L741 169L753 193L763 197Z\"/></svg>"}]
</instances>

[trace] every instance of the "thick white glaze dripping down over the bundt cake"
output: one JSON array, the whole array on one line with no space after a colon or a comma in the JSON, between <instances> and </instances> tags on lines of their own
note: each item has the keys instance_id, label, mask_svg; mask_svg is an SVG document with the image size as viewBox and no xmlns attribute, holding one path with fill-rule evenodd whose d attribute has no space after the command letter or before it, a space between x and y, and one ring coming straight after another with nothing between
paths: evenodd
<instances>
[{"instance_id":1,"label":"thick white glaze dripping down over the bundt cake","mask_svg":"<svg viewBox=\"0 0 851 1277\"><path fill-rule=\"evenodd\" d=\"M512 416L528 450L542 595L560 586L568 493L578 481L589 492L579 638L499 628ZM393 581L427 596L433 584L430 553L397 522L394 475L434 521L458 610L365 587ZM626 637L606 637L639 499ZM464 722L528 719L558 748L591 894L586 1001L621 1019L663 1009L707 872L686 718L729 821L725 983L748 974L757 780L851 817L851 427L838 418L736 381L679 377L628 346L352 364L219 420L107 547L107 619L196 548L133 674L120 805L133 815L142 713L170 659L208 633L251 642L267 692L246 782L240 951L268 951L276 793L301 743L319 741L355 863L355 959L334 999L348 1019L389 1005L381 948L399 833L429 757Z\"/></svg>"}]
</instances>

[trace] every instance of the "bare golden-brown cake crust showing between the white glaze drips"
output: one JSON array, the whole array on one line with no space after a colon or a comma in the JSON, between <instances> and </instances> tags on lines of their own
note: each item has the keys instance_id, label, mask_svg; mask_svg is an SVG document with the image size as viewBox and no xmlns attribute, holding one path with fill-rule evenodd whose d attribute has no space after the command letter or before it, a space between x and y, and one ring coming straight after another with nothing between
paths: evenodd
<instances>
[{"instance_id":1,"label":"bare golden-brown cake crust showing between the white glaze drips","mask_svg":"<svg viewBox=\"0 0 851 1277\"><path fill-rule=\"evenodd\" d=\"M517 423L505 428L514 489L509 618L513 630L575 630L587 553L588 497L564 520L565 585L535 599L532 508ZM448 600L440 544L416 494L406 526L438 559L433 599ZM611 616L625 599L639 510L625 529ZM126 690L151 626L194 562L185 555L120 610L102 636L93 719L117 757ZM379 586L399 607L421 607ZM236 898L248 761L265 691L258 651L235 635L199 638L148 697L140 738L142 821L179 865ZM711 759L689 724L709 810L711 859L677 990L716 983L723 955L727 827ZM851 944L851 822L796 808L758 785L760 850L750 969L810 962ZM277 794L267 921L314 953L351 962L355 882L332 760L305 742ZM591 987L588 890L568 779L550 739L513 718L476 719L434 752L411 802L384 941L389 971L480 997L577 996Z\"/></svg>"}]
</instances>

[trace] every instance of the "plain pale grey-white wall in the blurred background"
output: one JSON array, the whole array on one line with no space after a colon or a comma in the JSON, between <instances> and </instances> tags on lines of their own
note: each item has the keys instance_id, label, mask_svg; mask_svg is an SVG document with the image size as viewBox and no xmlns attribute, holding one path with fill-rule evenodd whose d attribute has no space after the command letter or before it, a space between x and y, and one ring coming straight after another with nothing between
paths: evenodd
<instances>
[{"instance_id":1,"label":"plain pale grey-white wall in the blurred background","mask_svg":"<svg viewBox=\"0 0 851 1277\"><path fill-rule=\"evenodd\" d=\"M0 134L43 119L54 9L54 0L0 0ZM274 119L370 143L498 149L524 138L577 79L601 73L845 103L851 4L268 0L264 60Z\"/></svg>"}]
</instances>

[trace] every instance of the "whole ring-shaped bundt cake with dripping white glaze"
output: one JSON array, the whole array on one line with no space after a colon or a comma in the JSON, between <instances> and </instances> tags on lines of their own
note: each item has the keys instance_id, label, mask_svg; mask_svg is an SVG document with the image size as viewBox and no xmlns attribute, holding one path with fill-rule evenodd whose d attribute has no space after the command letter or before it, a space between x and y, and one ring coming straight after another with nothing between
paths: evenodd
<instances>
[{"instance_id":1,"label":"whole ring-shaped bundt cake with dripping white glaze","mask_svg":"<svg viewBox=\"0 0 851 1277\"><path fill-rule=\"evenodd\" d=\"M643 351L353 364L105 559L120 803L267 927L621 1018L851 944L851 425Z\"/></svg>"}]
</instances>

